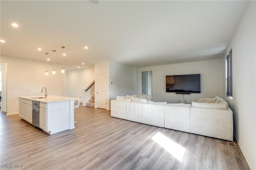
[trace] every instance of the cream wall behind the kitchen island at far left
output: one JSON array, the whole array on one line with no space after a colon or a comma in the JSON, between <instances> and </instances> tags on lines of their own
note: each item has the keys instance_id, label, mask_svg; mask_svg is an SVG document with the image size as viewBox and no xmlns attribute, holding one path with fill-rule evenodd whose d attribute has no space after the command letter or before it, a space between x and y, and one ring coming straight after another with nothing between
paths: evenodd
<instances>
[{"instance_id":1,"label":"cream wall behind the kitchen island at far left","mask_svg":"<svg viewBox=\"0 0 256 170\"><path fill-rule=\"evenodd\" d=\"M7 63L7 115L18 113L18 96L44 96L42 87L47 88L48 95L62 95L64 75L59 64L55 64L56 75L46 76L46 64L42 61L1 55L1 62ZM49 72L51 65L48 65Z\"/></svg>"}]
</instances>

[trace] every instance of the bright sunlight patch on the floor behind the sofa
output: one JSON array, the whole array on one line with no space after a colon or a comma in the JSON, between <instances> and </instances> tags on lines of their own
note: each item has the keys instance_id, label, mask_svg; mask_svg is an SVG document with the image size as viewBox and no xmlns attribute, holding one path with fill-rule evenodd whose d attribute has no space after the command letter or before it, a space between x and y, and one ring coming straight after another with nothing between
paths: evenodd
<instances>
[{"instance_id":1,"label":"bright sunlight patch on the floor behind the sofa","mask_svg":"<svg viewBox=\"0 0 256 170\"><path fill-rule=\"evenodd\" d=\"M167 152L172 154L180 162L185 154L186 149L180 146L178 143L172 141L172 139L166 137L162 133L156 133L151 139L153 139L158 145L164 148Z\"/></svg>"}]
</instances>

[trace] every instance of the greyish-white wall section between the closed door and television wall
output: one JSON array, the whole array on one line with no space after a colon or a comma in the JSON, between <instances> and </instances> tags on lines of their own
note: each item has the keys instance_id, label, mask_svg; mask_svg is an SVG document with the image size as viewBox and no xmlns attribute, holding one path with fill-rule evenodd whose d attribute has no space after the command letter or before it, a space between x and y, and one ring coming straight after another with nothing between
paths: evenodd
<instances>
[{"instance_id":1,"label":"greyish-white wall section between the closed door and television wall","mask_svg":"<svg viewBox=\"0 0 256 170\"><path fill-rule=\"evenodd\" d=\"M110 62L109 100L137 93L137 68Z\"/></svg>"}]
</instances>

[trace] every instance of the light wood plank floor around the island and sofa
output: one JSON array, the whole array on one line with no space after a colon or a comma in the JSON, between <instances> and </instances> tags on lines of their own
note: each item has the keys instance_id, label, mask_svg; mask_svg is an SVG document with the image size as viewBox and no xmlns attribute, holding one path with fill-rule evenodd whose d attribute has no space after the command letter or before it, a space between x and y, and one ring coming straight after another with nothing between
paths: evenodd
<instances>
[{"instance_id":1,"label":"light wood plank floor around the island and sofa","mask_svg":"<svg viewBox=\"0 0 256 170\"><path fill-rule=\"evenodd\" d=\"M75 129L48 135L18 115L1 112L0 169L250 169L236 141L233 147L224 140L117 119L108 110L86 106L75 109L75 121ZM151 139L158 132L186 149L181 162Z\"/></svg>"}]
</instances>

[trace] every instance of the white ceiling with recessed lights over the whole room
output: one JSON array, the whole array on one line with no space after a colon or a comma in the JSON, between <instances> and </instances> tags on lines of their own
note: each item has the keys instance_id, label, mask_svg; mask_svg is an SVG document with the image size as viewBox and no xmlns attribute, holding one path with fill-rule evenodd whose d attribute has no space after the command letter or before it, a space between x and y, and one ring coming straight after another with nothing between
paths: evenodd
<instances>
[{"instance_id":1,"label":"white ceiling with recessed lights over the whole room","mask_svg":"<svg viewBox=\"0 0 256 170\"><path fill-rule=\"evenodd\" d=\"M47 52L53 61L54 49L62 63L65 46L68 70L100 61L144 67L220 59L247 3L1 0L1 55L45 61Z\"/></svg>"}]
</instances>

